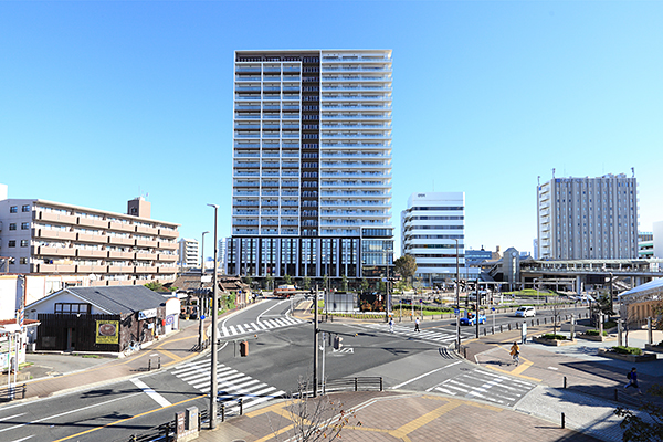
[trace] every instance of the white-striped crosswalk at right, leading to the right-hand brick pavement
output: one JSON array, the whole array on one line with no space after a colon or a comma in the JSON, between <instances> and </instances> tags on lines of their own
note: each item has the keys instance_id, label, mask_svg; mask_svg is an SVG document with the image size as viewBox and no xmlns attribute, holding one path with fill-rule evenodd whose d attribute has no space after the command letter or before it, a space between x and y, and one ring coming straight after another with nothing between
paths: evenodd
<instances>
[{"instance_id":1,"label":"white-striped crosswalk at right, leading to the right-hand brick pavement","mask_svg":"<svg viewBox=\"0 0 663 442\"><path fill-rule=\"evenodd\" d=\"M534 387L536 387L535 383L477 368L467 373L448 379L441 385L430 388L428 391L481 399L511 407L518 402Z\"/></svg>"}]
</instances>

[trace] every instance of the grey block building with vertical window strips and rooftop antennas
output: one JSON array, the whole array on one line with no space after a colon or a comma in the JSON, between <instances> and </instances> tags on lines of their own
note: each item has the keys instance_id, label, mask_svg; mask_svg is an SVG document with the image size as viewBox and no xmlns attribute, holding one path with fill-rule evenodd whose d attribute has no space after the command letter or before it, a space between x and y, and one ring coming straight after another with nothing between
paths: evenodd
<instances>
[{"instance_id":1,"label":"grey block building with vertical window strips and rooftop antennas","mask_svg":"<svg viewBox=\"0 0 663 442\"><path fill-rule=\"evenodd\" d=\"M537 187L543 260L638 257L635 177L552 178Z\"/></svg>"}]
</instances>

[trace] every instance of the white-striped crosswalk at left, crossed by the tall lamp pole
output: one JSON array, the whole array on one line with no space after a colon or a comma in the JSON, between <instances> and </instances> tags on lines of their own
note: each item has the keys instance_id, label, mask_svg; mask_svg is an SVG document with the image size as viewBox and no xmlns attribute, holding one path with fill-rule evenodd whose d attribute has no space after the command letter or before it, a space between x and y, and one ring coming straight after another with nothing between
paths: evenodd
<instances>
[{"instance_id":1,"label":"white-striped crosswalk at left, crossed by the tall lamp pole","mask_svg":"<svg viewBox=\"0 0 663 442\"><path fill-rule=\"evenodd\" d=\"M198 391L209 393L211 376L209 359L177 366L170 372ZM285 394L276 387L271 387L223 364L217 367L217 385L218 400L220 403L228 403L229 412L236 411L240 399L243 407L249 408Z\"/></svg>"}]
</instances>

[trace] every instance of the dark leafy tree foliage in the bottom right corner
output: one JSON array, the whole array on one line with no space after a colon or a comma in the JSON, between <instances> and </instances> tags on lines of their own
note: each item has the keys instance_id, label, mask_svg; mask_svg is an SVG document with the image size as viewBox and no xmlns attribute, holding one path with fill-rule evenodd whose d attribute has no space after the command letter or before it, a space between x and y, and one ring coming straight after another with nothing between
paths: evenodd
<instances>
[{"instance_id":1,"label":"dark leafy tree foliage in the bottom right corner","mask_svg":"<svg viewBox=\"0 0 663 442\"><path fill-rule=\"evenodd\" d=\"M652 386L646 391L652 396L663 398L663 387L659 385ZM624 430L622 441L624 442L655 442L663 441L663 406L653 403L649 400L643 401L639 408L649 414L651 419L642 419L632 410L618 408L614 414L624 418L619 427Z\"/></svg>"}]
</instances>

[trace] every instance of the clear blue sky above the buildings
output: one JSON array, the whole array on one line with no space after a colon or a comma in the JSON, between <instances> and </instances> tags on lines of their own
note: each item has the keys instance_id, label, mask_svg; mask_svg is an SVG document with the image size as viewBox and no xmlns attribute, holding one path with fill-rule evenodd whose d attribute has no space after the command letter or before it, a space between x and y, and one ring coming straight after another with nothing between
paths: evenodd
<instances>
[{"instance_id":1,"label":"clear blue sky above the buildings","mask_svg":"<svg viewBox=\"0 0 663 442\"><path fill-rule=\"evenodd\" d=\"M412 192L464 191L469 248L532 251L537 177L631 167L651 231L662 17L663 2L2 1L0 183L118 212L148 193L152 218L197 239L218 203L227 236L233 51L392 49L396 232Z\"/></svg>"}]
</instances>

